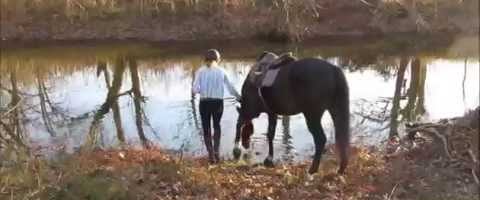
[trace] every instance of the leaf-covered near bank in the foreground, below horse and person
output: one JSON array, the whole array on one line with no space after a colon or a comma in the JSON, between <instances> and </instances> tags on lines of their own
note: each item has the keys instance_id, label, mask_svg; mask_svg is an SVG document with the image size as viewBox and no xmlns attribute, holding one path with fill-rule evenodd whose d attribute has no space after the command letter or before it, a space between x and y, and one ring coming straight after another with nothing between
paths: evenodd
<instances>
[{"instance_id":1,"label":"leaf-covered near bank in the foreground, below horse and person","mask_svg":"<svg viewBox=\"0 0 480 200\"><path fill-rule=\"evenodd\" d=\"M478 126L411 130L385 148L353 147L345 175L333 147L314 176L309 161L208 165L155 148L17 156L0 165L0 199L478 199Z\"/></svg>"}]
</instances>

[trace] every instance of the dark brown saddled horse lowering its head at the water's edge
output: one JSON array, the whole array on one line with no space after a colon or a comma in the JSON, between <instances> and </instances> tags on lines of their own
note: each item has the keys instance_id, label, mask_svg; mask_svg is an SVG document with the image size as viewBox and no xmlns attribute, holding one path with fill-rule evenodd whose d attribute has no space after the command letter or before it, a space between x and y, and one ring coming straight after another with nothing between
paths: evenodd
<instances>
[{"instance_id":1,"label":"dark brown saddled horse lowering its head at the water's edge","mask_svg":"<svg viewBox=\"0 0 480 200\"><path fill-rule=\"evenodd\" d=\"M348 164L349 148L349 92L343 71L324 60L307 58L286 60L276 66L278 75L271 86L262 86L259 78L266 66L278 60L273 53L262 54L242 86L241 106L237 108L239 117L235 137L234 155L241 153L238 143L249 148L253 134L252 120L260 113L268 114L268 157L266 166L273 165L273 139L278 115L303 113L308 130L315 142L315 155L309 173L318 171L320 158L325 147L326 137L321 125L322 116L327 110L335 126L335 140L340 153L339 173ZM260 78L261 79L261 78Z\"/></svg>"}]
</instances>

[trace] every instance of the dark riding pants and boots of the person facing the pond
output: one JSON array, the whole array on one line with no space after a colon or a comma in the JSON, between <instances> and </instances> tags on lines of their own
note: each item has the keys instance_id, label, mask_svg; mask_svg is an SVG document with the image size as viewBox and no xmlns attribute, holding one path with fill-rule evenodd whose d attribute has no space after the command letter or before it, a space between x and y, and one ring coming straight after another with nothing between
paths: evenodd
<instances>
[{"instance_id":1,"label":"dark riding pants and boots of the person facing the pond","mask_svg":"<svg viewBox=\"0 0 480 200\"><path fill-rule=\"evenodd\" d=\"M220 160L220 120L223 114L223 99L201 99L200 100L200 116L202 119L203 139L207 147L208 157L211 162ZM211 121L213 120L213 146ZM213 147L213 149L212 149Z\"/></svg>"}]
</instances>

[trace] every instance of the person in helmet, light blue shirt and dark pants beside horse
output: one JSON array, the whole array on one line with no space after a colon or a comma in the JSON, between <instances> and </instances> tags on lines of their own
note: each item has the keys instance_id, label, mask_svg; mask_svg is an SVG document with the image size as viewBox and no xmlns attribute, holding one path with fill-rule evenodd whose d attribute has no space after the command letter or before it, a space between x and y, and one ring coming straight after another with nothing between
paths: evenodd
<instances>
[{"instance_id":1,"label":"person in helmet, light blue shirt and dark pants beside horse","mask_svg":"<svg viewBox=\"0 0 480 200\"><path fill-rule=\"evenodd\" d=\"M220 53L210 49L205 54L205 66L200 67L195 75L192 92L200 94L200 116L202 119L203 136L208 151L210 163L220 161L220 120L223 114L224 86L240 100L240 95L228 80L225 72L218 66ZM213 146L210 124L213 119Z\"/></svg>"}]
</instances>

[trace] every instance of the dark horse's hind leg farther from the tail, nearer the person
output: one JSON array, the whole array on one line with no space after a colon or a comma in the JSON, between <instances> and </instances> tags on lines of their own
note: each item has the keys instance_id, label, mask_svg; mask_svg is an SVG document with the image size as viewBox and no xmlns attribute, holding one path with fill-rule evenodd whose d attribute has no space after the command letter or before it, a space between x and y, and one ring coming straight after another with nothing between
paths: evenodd
<instances>
[{"instance_id":1,"label":"dark horse's hind leg farther from the tail, nearer the person","mask_svg":"<svg viewBox=\"0 0 480 200\"><path fill-rule=\"evenodd\" d=\"M321 124L321 116L323 115L323 111L319 113L305 113L304 115L307 122L308 130L312 134L313 141L315 142L315 155L313 157L313 162L310 166L310 170L308 171L310 174L314 174L318 171L322 152L325 148L325 143L327 142L327 138L325 137L325 133L323 132Z\"/></svg>"}]
</instances>

